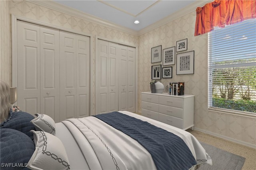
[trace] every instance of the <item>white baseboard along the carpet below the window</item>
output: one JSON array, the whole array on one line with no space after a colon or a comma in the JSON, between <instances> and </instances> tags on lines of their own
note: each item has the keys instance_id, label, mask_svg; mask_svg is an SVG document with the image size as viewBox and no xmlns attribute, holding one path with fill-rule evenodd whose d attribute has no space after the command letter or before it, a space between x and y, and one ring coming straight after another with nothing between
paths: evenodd
<instances>
[{"instance_id":1,"label":"white baseboard along the carpet below the window","mask_svg":"<svg viewBox=\"0 0 256 170\"><path fill-rule=\"evenodd\" d=\"M234 143L238 143L240 145L244 145L246 147L250 147L250 148L253 148L253 149L256 149L256 145L253 145L252 143L248 143L248 142L244 142L244 141L240 141L240 140L237 140L237 139L234 139L234 138L231 138L231 137L226 137L224 135L220 135L218 133L213 133L211 131L206 131L204 129L200 129L200 128L197 128L197 127L194 127L194 130L196 131L200 131L200 132L203 132L203 133L207 133L209 135L212 135L212 136L215 136L215 137L219 137L219 138L222 138L222 139L225 139L227 141L231 141L231 142L234 142Z\"/></svg>"}]
</instances>

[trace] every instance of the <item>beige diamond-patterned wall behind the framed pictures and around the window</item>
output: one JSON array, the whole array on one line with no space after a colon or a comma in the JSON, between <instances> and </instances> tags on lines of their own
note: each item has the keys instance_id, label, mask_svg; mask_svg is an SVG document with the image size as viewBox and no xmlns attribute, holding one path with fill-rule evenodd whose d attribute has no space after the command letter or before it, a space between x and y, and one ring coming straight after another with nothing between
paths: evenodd
<instances>
[{"instance_id":1,"label":"beige diamond-patterned wall behind the framed pictures and around the window","mask_svg":"<svg viewBox=\"0 0 256 170\"><path fill-rule=\"evenodd\" d=\"M226 113L208 111L208 36L194 36L196 12L192 12L170 23L158 27L139 37L138 51L138 108L141 109L141 92L150 91L151 48L162 45L162 49L176 46L176 41L188 39L188 50L194 52L194 74L176 75L176 61L172 66L172 78L160 80L167 86L169 82L185 82L185 94L193 94L194 124L201 131L212 133L245 143L256 145L256 119ZM186 51L182 51L183 53ZM166 66L165 66L166 67Z\"/></svg>"}]
</instances>

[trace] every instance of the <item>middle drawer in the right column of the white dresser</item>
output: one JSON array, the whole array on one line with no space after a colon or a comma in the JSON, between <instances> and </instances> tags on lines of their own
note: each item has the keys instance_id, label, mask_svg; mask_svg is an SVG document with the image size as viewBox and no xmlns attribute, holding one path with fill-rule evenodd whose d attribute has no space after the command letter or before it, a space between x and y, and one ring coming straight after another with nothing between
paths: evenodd
<instances>
[{"instance_id":1,"label":"middle drawer in the right column of the white dresser","mask_svg":"<svg viewBox=\"0 0 256 170\"><path fill-rule=\"evenodd\" d=\"M159 105L159 112L183 119L183 109L165 105Z\"/></svg>"}]
</instances>

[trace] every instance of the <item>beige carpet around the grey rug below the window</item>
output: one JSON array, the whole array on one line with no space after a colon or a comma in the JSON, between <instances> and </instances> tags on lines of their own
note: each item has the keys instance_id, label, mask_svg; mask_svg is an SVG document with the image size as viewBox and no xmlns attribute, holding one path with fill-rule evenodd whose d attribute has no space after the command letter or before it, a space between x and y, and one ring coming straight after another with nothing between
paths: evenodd
<instances>
[{"instance_id":1,"label":"beige carpet around the grey rug below the window","mask_svg":"<svg viewBox=\"0 0 256 170\"><path fill-rule=\"evenodd\" d=\"M199 141L246 158L242 170L256 170L256 149L226 141L199 131L192 131L191 129L187 131L194 135Z\"/></svg>"}]
</instances>

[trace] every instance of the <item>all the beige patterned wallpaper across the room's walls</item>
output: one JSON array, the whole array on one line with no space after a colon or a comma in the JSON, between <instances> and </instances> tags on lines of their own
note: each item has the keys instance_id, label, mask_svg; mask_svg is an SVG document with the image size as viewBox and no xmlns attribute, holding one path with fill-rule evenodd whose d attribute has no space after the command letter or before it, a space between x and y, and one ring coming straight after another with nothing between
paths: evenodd
<instances>
[{"instance_id":1,"label":"all the beige patterned wallpaper across the room's walls","mask_svg":"<svg viewBox=\"0 0 256 170\"><path fill-rule=\"evenodd\" d=\"M116 31L80 18L50 10L24 1L1 1L1 79L11 83L11 28L10 14L32 20L50 23L67 29L74 29L93 35L92 61L95 65L95 36L114 41L138 45L138 109L140 111L141 92L150 91L151 48L162 45L162 49L176 46L176 41L188 39L188 50L195 51L194 74L176 75L176 64L172 66L169 82L185 82L185 93L195 95L194 124L196 129L224 137L245 145L256 145L256 119L208 111L207 109L207 34L194 37L196 14L192 12L166 25L158 27L139 37ZM3 25L5 25L3 27ZM3 50L4 49L4 50ZM154 63L160 64L160 63ZM95 70L93 67L93 75ZM95 78L93 77L93 91ZM95 106L93 96L93 109Z\"/></svg>"}]
</instances>

